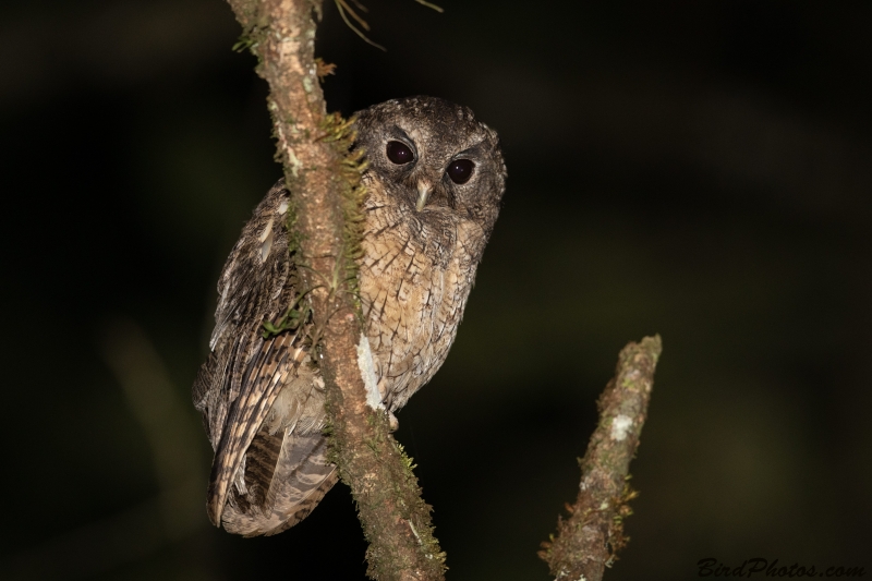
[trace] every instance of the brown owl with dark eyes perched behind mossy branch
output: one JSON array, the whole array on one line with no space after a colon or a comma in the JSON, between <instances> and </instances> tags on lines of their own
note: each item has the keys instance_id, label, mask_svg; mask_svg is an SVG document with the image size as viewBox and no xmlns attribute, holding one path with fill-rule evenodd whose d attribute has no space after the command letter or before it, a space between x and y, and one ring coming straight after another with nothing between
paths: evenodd
<instances>
[{"instance_id":1,"label":"brown owl with dark eyes perched behind mossy branch","mask_svg":"<svg viewBox=\"0 0 872 581\"><path fill-rule=\"evenodd\" d=\"M365 148L360 293L383 402L401 408L448 354L494 228L506 167L496 133L434 97L356 114ZM209 358L193 388L215 449L211 522L245 536L304 519L336 483L326 459L324 379L306 324L264 338L300 296L279 181L254 210L218 281ZM311 325L311 324L308 324Z\"/></svg>"}]
</instances>

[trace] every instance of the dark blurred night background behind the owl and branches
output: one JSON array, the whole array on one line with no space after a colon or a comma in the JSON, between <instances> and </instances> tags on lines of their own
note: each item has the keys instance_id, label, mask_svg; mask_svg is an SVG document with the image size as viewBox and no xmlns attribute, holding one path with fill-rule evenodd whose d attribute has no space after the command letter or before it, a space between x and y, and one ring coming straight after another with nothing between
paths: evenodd
<instances>
[{"instance_id":1,"label":"dark blurred night background behind the owl and branches","mask_svg":"<svg viewBox=\"0 0 872 581\"><path fill-rule=\"evenodd\" d=\"M469 105L509 168L457 343L399 414L449 579L547 579L595 399L654 332L606 579L872 574L872 4L366 3L386 53L326 2L329 107ZM276 537L206 521L189 387L281 173L239 34L221 0L0 5L0 578L364 578L343 485Z\"/></svg>"}]
</instances>

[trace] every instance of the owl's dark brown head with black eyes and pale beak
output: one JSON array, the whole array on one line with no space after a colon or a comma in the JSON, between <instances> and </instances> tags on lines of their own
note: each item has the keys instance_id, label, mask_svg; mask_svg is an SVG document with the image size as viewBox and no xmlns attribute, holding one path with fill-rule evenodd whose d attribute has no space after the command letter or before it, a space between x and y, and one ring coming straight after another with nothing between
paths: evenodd
<instances>
[{"instance_id":1,"label":"owl's dark brown head with black eyes and pale beak","mask_svg":"<svg viewBox=\"0 0 872 581\"><path fill-rule=\"evenodd\" d=\"M494 130L468 107L436 97L385 101L356 118L371 191L421 222L472 220L489 237L506 189Z\"/></svg>"}]
</instances>

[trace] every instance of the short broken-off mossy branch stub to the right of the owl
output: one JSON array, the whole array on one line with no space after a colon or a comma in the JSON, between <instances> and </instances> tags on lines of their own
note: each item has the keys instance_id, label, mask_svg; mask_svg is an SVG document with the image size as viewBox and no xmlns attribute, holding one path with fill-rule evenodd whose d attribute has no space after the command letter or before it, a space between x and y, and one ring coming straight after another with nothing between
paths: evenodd
<instances>
[{"instance_id":1,"label":"short broken-off mossy branch stub to the right of the owl","mask_svg":"<svg viewBox=\"0 0 872 581\"><path fill-rule=\"evenodd\" d=\"M663 347L659 336L628 343L615 377L600 396L600 423L581 460L581 484L570 517L557 519L557 535L542 544L540 557L556 581L601 581L629 538L623 519L637 496L628 483L630 460L647 414L654 368Z\"/></svg>"}]
</instances>

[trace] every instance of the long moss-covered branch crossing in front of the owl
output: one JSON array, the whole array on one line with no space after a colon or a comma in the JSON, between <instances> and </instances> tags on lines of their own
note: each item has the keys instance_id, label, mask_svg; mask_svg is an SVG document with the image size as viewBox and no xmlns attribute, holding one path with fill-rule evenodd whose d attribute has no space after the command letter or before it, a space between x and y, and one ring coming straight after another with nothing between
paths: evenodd
<instances>
[{"instance_id":1,"label":"long moss-covered branch crossing in front of the owl","mask_svg":"<svg viewBox=\"0 0 872 581\"><path fill-rule=\"evenodd\" d=\"M364 160L349 153L352 125L328 116L319 76L331 69L314 56L320 0L228 0L269 84L267 107L294 216L292 232L313 349L327 384L331 455L358 504L370 542L367 573L377 580L439 580L445 555L433 537L412 462L389 434L387 413L367 404L361 350L356 263ZM296 305L289 307L291 317ZM266 329L269 332L269 329ZM378 408L378 407L376 407Z\"/></svg>"}]
</instances>

